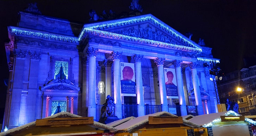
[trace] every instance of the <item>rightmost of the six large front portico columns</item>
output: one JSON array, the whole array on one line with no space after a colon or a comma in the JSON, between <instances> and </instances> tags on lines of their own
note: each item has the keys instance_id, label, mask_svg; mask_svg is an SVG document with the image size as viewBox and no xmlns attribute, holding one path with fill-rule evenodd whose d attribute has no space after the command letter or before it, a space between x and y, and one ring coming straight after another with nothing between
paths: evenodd
<instances>
[{"instance_id":1,"label":"rightmost of the six large front portico columns","mask_svg":"<svg viewBox=\"0 0 256 136\"><path fill-rule=\"evenodd\" d=\"M198 76L197 76L197 70L196 70L196 63L195 62L191 62L189 64L189 67L191 69L191 74L192 74L194 93L195 93L195 99L196 99L196 105L197 105L197 112L198 112L198 115L203 115L204 111L203 111L203 106L202 106L201 93L200 93L200 89L199 89Z\"/></svg>"}]
</instances>

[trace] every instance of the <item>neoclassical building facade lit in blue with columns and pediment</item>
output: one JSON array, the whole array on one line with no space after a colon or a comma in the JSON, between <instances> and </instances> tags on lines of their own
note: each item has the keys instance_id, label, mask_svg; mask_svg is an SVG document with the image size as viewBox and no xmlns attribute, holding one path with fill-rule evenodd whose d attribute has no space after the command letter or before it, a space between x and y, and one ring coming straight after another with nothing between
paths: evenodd
<instances>
[{"instance_id":1,"label":"neoclassical building facade lit in blue with columns and pediment","mask_svg":"<svg viewBox=\"0 0 256 136\"><path fill-rule=\"evenodd\" d=\"M181 116L193 106L198 115L217 111L212 76L203 64L219 59L151 14L89 24L38 11L19 16L5 44L10 76L3 127L61 111L97 120L97 107L108 95L118 118L124 118L125 104L135 104L137 116L147 114L147 105L167 112L178 105ZM125 67L132 69L131 78Z\"/></svg>"}]
</instances>

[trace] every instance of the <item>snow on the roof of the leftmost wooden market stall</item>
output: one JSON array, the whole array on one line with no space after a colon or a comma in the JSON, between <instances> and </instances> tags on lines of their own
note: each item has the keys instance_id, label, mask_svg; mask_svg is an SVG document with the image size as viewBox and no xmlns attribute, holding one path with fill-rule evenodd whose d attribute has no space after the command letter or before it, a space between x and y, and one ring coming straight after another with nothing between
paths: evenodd
<instances>
[{"instance_id":1,"label":"snow on the roof of the leftmost wooden market stall","mask_svg":"<svg viewBox=\"0 0 256 136\"><path fill-rule=\"evenodd\" d=\"M80 118L80 117L82 117L82 116L71 114L69 112L60 112L60 113L54 114L54 115L46 117L46 118ZM33 122L28 123L28 124L9 129L5 132L1 132L0 136L9 135L13 132L22 131L24 129L29 129L30 127L35 127L35 126L36 126L36 121L33 121ZM96 121L93 122L93 125L89 125L89 126L94 127L94 128L98 128L100 130L108 129L110 132L116 132L116 129L114 127L111 127L111 126L108 126L108 125L105 125L105 124L102 124L102 123L99 123L99 122L96 122Z\"/></svg>"}]
</instances>

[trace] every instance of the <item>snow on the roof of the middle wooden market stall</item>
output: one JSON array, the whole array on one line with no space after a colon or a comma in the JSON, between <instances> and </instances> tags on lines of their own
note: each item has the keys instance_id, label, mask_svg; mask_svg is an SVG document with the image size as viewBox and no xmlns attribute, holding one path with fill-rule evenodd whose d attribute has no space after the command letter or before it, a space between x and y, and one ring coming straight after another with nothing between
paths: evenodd
<instances>
[{"instance_id":1,"label":"snow on the roof of the middle wooden market stall","mask_svg":"<svg viewBox=\"0 0 256 136\"><path fill-rule=\"evenodd\" d=\"M137 118L131 119L131 120L127 121L127 122L124 122L123 124L120 124L120 125L116 126L115 128L118 131L130 132L130 131L132 131L136 127L139 127L141 125L147 124L149 116L155 116L155 117L159 117L159 116L178 117L178 116L173 115L173 114L171 114L169 112L162 111L162 112L157 112L157 113L154 113L154 114L148 114L148 115L145 115L145 116L141 116L141 117L137 117ZM188 125L188 126L193 127L193 128L200 127L199 125L196 125L196 124L194 124L192 122L189 122L187 120L183 120L183 124L184 125Z\"/></svg>"}]
</instances>

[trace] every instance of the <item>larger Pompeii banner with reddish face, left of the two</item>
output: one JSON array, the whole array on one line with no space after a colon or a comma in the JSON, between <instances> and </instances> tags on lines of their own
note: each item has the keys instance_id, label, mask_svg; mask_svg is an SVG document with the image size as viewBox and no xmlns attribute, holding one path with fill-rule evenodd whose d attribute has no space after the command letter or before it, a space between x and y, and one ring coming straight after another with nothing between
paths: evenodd
<instances>
[{"instance_id":1,"label":"larger Pompeii banner with reddish face, left of the two","mask_svg":"<svg viewBox=\"0 0 256 136\"><path fill-rule=\"evenodd\" d=\"M134 64L120 62L120 71L121 95L136 96Z\"/></svg>"}]
</instances>

